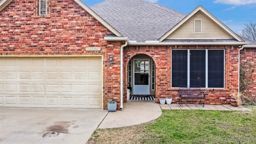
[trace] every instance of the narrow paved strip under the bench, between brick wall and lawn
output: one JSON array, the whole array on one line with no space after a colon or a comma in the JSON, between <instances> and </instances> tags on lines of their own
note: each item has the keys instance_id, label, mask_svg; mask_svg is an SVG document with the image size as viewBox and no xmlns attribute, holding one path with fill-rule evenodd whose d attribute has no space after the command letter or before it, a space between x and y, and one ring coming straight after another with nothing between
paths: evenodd
<instances>
[{"instance_id":1,"label":"narrow paved strip under the bench, between brick wall and lawn","mask_svg":"<svg viewBox=\"0 0 256 144\"><path fill-rule=\"evenodd\" d=\"M252 111L244 106L231 106L230 104L222 105L204 105L200 104L183 104L181 107L179 104L160 104L162 110L240 110L240 111Z\"/></svg>"}]
</instances>

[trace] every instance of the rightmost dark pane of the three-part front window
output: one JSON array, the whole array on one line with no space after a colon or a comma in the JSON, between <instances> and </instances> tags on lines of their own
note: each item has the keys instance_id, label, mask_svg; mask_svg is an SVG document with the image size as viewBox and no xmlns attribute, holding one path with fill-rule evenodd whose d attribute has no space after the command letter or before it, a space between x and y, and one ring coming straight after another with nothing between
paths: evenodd
<instances>
[{"instance_id":1,"label":"rightmost dark pane of the three-part front window","mask_svg":"<svg viewBox=\"0 0 256 144\"><path fill-rule=\"evenodd\" d=\"M224 50L208 50L208 88L224 88Z\"/></svg>"}]
</instances>

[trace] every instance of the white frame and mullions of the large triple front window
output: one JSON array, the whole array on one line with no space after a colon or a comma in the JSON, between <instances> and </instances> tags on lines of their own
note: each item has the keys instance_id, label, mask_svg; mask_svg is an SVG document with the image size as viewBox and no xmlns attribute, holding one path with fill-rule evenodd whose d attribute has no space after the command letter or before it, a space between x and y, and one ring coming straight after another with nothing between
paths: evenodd
<instances>
[{"instance_id":1,"label":"white frame and mullions of the large triple front window","mask_svg":"<svg viewBox=\"0 0 256 144\"><path fill-rule=\"evenodd\" d=\"M187 50L187 52L188 52L188 60L187 60L187 62L188 62L188 64L187 64L187 68L188 68L188 71L187 71L187 85L188 86L190 86L190 50L205 50L206 52L205 52L205 54L207 54L206 55L206 76L205 76L205 78L206 78L206 80L205 80L205 82L206 82L206 84L205 84L205 88L208 88L208 50L223 50L223 58L224 58L224 60L223 60L223 88L213 88L213 89L224 89L226 86L225 86L225 72L226 72L226 70L225 70L225 49L172 49L172 50ZM172 54L171 54L171 59L172 59ZM171 64L171 66L172 66L172 64ZM172 82L172 68L171 68L171 82ZM172 86L172 84L171 84L171 88L178 88L178 87L173 87Z\"/></svg>"}]
</instances>

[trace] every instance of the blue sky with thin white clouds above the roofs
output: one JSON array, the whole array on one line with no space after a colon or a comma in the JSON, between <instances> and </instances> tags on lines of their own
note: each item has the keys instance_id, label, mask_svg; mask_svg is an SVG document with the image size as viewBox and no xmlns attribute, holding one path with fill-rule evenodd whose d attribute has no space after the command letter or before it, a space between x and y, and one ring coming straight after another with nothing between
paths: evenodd
<instances>
[{"instance_id":1,"label":"blue sky with thin white clouds above the roofs","mask_svg":"<svg viewBox=\"0 0 256 144\"><path fill-rule=\"evenodd\" d=\"M81 0L93 6L104 0ZM256 23L256 0L144 0L158 3L184 14L189 14L197 6L203 6L213 16L223 22L233 32L238 33L249 22Z\"/></svg>"}]
</instances>

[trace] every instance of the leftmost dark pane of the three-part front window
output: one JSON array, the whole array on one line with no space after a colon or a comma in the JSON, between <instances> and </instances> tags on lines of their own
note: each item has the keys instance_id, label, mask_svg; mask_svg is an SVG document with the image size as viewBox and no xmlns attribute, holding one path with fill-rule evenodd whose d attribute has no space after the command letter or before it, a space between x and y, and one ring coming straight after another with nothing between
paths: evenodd
<instances>
[{"instance_id":1,"label":"leftmost dark pane of the three-part front window","mask_svg":"<svg viewBox=\"0 0 256 144\"><path fill-rule=\"evenodd\" d=\"M188 50L172 50L172 87L186 86Z\"/></svg>"}]
</instances>

